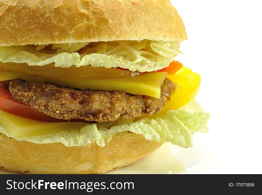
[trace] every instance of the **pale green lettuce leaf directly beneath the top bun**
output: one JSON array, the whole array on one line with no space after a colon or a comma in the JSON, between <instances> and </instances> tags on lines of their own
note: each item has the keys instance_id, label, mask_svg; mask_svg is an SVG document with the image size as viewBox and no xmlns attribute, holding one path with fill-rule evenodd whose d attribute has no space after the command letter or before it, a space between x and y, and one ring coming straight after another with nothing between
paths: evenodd
<instances>
[{"instance_id":1,"label":"pale green lettuce leaf directly beneath the top bun","mask_svg":"<svg viewBox=\"0 0 262 195\"><path fill-rule=\"evenodd\" d=\"M37 46L0 46L2 63L27 63L29 66L44 66L54 63L55 67L103 66L121 67L150 72L162 69L178 55L180 42L169 41L110 41L90 43L79 53L57 53L51 47L37 51Z\"/></svg>"}]
</instances>

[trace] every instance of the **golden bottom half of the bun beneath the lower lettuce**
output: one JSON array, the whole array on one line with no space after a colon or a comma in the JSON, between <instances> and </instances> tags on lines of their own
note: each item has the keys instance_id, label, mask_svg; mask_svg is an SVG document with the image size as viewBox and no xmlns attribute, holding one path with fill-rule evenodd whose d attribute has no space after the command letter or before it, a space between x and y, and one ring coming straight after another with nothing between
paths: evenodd
<instances>
[{"instance_id":1,"label":"golden bottom half of the bun beneath the lower lettuce","mask_svg":"<svg viewBox=\"0 0 262 195\"><path fill-rule=\"evenodd\" d=\"M37 144L0 134L0 168L26 174L101 174L130 165L163 143L128 131L116 134L105 147Z\"/></svg>"}]
</instances>

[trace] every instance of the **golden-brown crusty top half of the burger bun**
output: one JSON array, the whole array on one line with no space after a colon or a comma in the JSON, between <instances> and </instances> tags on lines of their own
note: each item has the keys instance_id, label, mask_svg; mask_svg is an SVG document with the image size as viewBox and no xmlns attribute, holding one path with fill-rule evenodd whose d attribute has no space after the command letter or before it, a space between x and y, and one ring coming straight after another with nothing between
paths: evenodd
<instances>
[{"instance_id":1,"label":"golden-brown crusty top half of the burger bun","mask_svg":"<svg viewBox=\"0 0 262 195\"><path fill-rule=\"evenodd\" d=\"M0 46L187 39L168 0L5 0L0 24Z\"/></svg>"}]
</instances>

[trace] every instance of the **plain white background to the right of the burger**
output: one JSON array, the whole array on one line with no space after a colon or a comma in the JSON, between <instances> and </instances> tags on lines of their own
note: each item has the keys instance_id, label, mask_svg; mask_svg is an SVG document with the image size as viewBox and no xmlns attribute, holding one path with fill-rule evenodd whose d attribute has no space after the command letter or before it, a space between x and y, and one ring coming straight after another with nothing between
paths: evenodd
<instances>
[{"instance_id":1,"label":"plain white background to the right of the burger","mask_svg":"<svg viewBox=\"0 0 262 195\"><path fill-rule=\"evenodd\" d=\"M260 2L171 0L188 34L179 60L201 75L197 99L211 113L208 134L194 137L194 152L213 159L203 173L262 174Z\"/></svg>"}]
</instances>

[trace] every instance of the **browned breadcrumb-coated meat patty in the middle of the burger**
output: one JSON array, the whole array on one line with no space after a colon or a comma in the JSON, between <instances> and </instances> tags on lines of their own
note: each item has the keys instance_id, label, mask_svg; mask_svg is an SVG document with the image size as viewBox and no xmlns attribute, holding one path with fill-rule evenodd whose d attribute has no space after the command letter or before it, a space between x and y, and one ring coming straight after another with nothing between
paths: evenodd
<instances>
[{"instance_id":1,"label":"browned breadcrumb-coated meat patty in the middle of the burger","mask_svg":"<svg viewBox=\"0 0 262 195\"><path fill-rule=\"evenodd\" d=\"M7 81L8 83L9 91L15 100L31 106L38 112L57 119L77 118L96 122L156 114L165 106L176 87L166 78L158 99L146 95L82 90L18 79Z\"/></svg>"}]
</instances>

